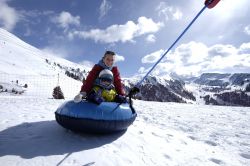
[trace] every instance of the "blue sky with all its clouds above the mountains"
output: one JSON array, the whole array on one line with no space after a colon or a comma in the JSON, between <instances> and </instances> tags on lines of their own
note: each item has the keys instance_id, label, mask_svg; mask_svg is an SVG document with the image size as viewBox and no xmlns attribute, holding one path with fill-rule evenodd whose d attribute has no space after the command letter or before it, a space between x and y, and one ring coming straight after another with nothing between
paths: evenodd
<instances>
[{"instance_id":1,"label":"blue sky with all its clouds above the mountains","mask_svg":"<svg viewBox=\"0 0 250 166\"><path fill-rule=\"evenodd\" d=\"M118 54L123 77L144 74L204 0L0 0L0 27L25 42L92 66ZM250 71L249 0L206 9L152 74Z\"/></svg>"}]
</instances>

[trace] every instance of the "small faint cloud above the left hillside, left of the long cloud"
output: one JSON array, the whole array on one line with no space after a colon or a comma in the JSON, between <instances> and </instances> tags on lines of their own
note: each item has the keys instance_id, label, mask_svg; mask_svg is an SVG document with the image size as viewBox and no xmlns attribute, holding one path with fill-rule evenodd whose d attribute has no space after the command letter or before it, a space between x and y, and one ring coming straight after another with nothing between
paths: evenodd
<instances>
[{"instance_id":1,"label":"small faint cloud above the left hillside, left of the long cloud","mask_svg":"<svg viewBox=\"0 0 250 166\"><path fill-rule=\"evenodd\" d=\"M70 25L80 25L80 16L72 16L69 12L63 11L54 17L52 21L58 23L60 27L68 29Z\"/></svg>"}]
</instances>

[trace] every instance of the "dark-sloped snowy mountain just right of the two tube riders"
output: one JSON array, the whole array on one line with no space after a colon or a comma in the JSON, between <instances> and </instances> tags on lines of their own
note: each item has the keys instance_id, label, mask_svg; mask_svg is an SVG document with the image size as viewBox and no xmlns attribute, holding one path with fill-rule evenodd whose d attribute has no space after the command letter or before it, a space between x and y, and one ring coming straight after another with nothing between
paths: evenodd
<instances>
[{"instance_id":1,"label":"dark-sloped snowy mountain just right of the two tube riders","mask_svg":"<svg viewBox=\"0 0 250 166\"><path fill-rule=\"evenodd\" d=\"M141 77L124 79L127 89L140 81ZM185 83L170 76L148 76L140 86L136 98L145 101L194 103L195 97L186 90Z\"/></svg>"}]
</instances>

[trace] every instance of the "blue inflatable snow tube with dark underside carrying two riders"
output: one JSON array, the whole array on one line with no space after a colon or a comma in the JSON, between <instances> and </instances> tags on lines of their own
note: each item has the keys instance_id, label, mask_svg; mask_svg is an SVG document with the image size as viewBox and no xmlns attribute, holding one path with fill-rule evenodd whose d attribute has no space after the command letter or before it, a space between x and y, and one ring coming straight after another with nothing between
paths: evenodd
<instances>
[{"instance_id":1,"label":"blue inflatable snow tube with dark underside carrying two riders","mask_svg":"<svg viewBox=\"0 0 250 166\"><path fill-rule=\"evenodd\" d=\"M63 103L55 112L56 121L66 129L87 133L112 133L126 130L137 114L128 103L82 101Z\"/></svg>"}]
</instances>

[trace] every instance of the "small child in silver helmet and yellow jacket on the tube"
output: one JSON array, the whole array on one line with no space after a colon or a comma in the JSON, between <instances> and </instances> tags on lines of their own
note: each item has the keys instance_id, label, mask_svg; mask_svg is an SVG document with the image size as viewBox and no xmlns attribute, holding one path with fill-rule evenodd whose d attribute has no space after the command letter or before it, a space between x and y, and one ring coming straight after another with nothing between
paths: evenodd
<instances>
[{"instance_id":1,"label":"small child in silver helmet and yellow jacket on the tube","mask_svg":"<svg viewBox=\"0 0 250 166\"><path fill-rule=\"evenodd\" d=\"M102 70L95 80L94 86L87 96L87 100L96 104L101 104L104 101L126 103L126 97L117 94L113 80L113 73L110 70Z\"/></svg>"}]
</instances>

